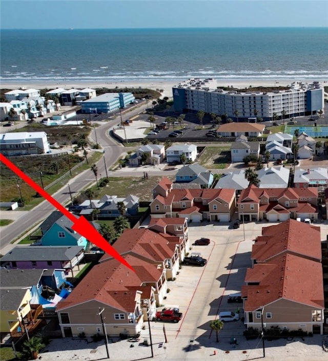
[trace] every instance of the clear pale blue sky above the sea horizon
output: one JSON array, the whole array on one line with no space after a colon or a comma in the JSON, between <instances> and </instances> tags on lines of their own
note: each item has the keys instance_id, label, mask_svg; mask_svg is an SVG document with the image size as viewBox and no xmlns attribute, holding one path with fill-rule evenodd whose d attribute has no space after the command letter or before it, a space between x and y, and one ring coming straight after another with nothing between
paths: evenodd
<instances>
[{"instance_id":1,"label":"clear pale blue sky above the sea horizon","mask_svg":"<svg viewBox=\"0 0 328 361\"><path fill-rule=\"evenodd\" d=\"M328 0L0 0L1 29L328 27Z\"/></svg>"}]
</instances>

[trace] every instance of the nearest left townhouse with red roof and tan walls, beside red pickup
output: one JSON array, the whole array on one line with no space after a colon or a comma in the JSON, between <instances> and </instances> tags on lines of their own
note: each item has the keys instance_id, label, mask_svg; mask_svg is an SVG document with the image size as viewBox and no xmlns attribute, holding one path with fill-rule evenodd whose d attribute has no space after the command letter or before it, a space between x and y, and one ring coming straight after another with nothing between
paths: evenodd
<instances>
[{"instance_id":1,"label":"nearest left townhouse with red roof and tan walls, beside red pickup","mask_svg":"<svg viewBox=\"0 0 328 361\"><path fill-rule=\"evenodd\" d=\"M166 284L165 272L156 264L125 254L134 271L111 258L94 266L67 299L56 307L63 337L102 334L98 310L103 309L107 334L135 336L144 320L155 315L155 287ZM83 315L83 317L81 317Z\"/></svg>"}]
</instances>

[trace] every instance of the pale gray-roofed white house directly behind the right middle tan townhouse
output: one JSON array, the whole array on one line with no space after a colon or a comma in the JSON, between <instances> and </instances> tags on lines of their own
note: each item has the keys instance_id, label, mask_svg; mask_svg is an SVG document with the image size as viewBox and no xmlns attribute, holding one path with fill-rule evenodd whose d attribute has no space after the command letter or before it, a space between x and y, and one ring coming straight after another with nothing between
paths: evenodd
<instances>
[{"instance_id":1,"label":"pale gray-roofed white house directly behind the right middle tan townhouse","mask_svg":"<svg viewBox=\"0 0 328 361\"><path fill-rule=\"evenodd\" d=\"M260 181L259 188L286 188L288 187L290 169L282 165L279 167L265 167L257 171Z\"/></svg>"}]
</instances>

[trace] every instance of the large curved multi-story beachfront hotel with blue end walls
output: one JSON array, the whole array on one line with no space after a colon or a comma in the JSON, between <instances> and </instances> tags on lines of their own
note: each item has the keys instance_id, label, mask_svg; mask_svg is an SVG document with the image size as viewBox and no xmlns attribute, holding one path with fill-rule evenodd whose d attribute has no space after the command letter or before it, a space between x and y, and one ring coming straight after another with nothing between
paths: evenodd
<instances>
[{"instance_id":1,"label":"large curved multi-story beachfront hotel with blue end walls","mask_svg":"<svg viewBox=\"0 0 328 361\"><path fill-rule=\"evenodd\" d=\"M269 121L275 114L280 119L311 115L323 111L324 107L324 89L318 81L311 84L294 82L288 90L259 92L250 88L241 93L218 88L212 78L193 78L179 83L172 91L177 112L197 113L202 110L205 113L227 114L237 121L252 117Z\"/></svg>"}]
</instances>

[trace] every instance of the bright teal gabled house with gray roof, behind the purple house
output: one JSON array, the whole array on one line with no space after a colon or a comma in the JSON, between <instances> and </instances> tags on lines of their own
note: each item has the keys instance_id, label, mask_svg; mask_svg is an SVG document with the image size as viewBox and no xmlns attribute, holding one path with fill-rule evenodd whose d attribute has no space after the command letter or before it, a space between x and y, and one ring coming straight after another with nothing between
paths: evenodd
<instances>
[{"instance_id":1,"label":"bright teal gabled house with gray roof, behind the purple house","mask_svg":"<svg viewBox=\"0 0 328 361\"><path fill-rule=\"evenodd\" d=\"M87 248L88 240L72 229L73 222L60 212L53 212L41 225L43 246L82 246ZM98 225L93 223L97 228Z\"/></svg>"}]
</instances>

